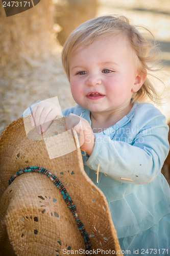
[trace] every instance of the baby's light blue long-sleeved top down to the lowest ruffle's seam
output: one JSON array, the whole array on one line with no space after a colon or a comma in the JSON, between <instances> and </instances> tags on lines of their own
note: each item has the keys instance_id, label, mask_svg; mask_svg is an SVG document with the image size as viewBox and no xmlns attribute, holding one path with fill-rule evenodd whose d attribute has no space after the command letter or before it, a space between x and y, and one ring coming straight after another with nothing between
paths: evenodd
<instances>
[{"instance_id":1,"label":"baby's light blue long-sleeved top down to the lowest ruffle's seam","mask_svg":"<svg viewBox=\"0 0 170 256\"><path fill-rule=\"evenodd\" d=\"M91 124L90 111L79 105L62 113L82 113ZM168 125L161 112L153 104L135 102L127 116L94 135L90 157L82 152L84 169L106 196L118 238L170 217L170 190L160 173L169 151Z\"/></svg>"}]
</instances>

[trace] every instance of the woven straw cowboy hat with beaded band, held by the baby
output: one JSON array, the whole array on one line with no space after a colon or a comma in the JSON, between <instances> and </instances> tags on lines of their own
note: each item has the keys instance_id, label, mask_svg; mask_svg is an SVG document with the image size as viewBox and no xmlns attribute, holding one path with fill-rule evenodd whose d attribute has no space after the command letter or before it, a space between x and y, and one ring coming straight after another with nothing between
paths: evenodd
<instances>
[{"instance_id":1,"label":"woven straw cowboy hat with beaded band, held by the baby","mask_svg":"<svg viewBox=\"0 0 170 256\"><path fill-rule=\"evenodd\" d=\"M59 117L38 135L30 118L13 121L0 138L0 254L123 255L77 133Z\"/></svg>"}]
</instances>

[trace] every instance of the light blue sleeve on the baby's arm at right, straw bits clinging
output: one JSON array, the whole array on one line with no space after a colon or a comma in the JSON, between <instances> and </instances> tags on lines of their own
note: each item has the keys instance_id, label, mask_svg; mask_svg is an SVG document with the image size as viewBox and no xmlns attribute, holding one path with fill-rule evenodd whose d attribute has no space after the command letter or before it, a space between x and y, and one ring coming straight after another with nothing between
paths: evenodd
<instances>
[{"instance_id":1,"label":"light blue sleeve on the baby's arm at right, straw bits clinging","mask_svg":"<svg viewBox=\"0 0 170 256\"><path fill-rule=\"evenodd\" d=\"M85 164L117 181L145 184L160 173L169 151L168 126L165 117L158 115L148 122L134 136L133 142L111 140L107 135L95 134L92 154Z\"/></svg>"}]
</instances>

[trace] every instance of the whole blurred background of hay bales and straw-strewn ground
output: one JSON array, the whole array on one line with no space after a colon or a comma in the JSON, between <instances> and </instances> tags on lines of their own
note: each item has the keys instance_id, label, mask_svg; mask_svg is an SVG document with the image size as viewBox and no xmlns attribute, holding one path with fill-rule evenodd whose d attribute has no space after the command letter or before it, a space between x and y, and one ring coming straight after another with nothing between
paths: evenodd
<instances>
[{"instance_id":1,"label":"whole blurred background of hay bales and straw-strewn ground","mask_svg":"<svg viewBox=\"0 0 170 256\"><path fill-rule=\"evenodd\" d=\"M81 23L109 14L125 15L132 24L153 32L164 66L157 75L165 83L155 81L164 93L157 107L170 122L169 0L41 0L34 8L9 17L0 1L0 133L37 100L58 96L62 109L76 105L62 69L62 45ZM169 179L167 168L164 172Z\"/></svg>"}]
</instances>

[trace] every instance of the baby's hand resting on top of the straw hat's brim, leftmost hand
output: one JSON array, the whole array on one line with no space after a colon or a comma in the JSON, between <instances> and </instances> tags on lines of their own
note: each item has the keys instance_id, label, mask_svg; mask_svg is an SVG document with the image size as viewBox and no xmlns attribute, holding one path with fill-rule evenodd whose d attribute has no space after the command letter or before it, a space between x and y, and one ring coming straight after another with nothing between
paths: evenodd
<instances>
[{"instance_id":1,"label":"baby's hand resting on top of the straw hat's brim, leftmost hand","mask_svg":"<svg viewBox=\"0 0 170 256\"><path fill-rule=\"evenodd\" d=\"M35 104L32 110L31 125L36 127L36 132L41 134L45 132L52 121L61 115L61 110L56 104L47 101L41 101Z\"/></svg>"}]
</instances>

